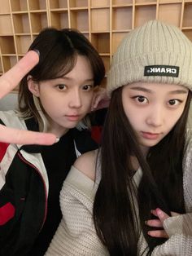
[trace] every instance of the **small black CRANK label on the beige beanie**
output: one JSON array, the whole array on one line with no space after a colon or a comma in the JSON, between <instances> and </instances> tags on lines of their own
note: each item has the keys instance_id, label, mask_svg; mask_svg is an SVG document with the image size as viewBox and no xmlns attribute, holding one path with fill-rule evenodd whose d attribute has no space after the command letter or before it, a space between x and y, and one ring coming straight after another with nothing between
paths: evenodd
<instances>
[{"instance_id":1,"label":"small black CRANK label on the beige beanie","mask_svg":"<svg viewBox=\"0 0 192 256\"><path fill-rule=\"evenodd\" d=\"M146 66L144 69L144 76L178 77L179 67L169 65Z\"/></svg>"}]
</instances>

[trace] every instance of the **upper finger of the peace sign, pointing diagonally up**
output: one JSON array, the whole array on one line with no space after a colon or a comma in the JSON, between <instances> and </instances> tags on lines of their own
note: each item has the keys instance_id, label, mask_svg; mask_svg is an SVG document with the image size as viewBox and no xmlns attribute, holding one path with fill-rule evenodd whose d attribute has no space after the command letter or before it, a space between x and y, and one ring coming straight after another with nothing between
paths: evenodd
<instances>
[{"instance_id":1,"label":"upper finger of the peace sign, pointing diagonally up","mask_svg":"<svg viewBox=\"0 0 192 256\"><path fill-rule=\"evenodd\" d=\"M28 51L26 55L11 68L7 73L0 77L0 99L8 92L18 86L20 80L28 73L39 61L36 51Z\"/></svg>"}]
</instances>

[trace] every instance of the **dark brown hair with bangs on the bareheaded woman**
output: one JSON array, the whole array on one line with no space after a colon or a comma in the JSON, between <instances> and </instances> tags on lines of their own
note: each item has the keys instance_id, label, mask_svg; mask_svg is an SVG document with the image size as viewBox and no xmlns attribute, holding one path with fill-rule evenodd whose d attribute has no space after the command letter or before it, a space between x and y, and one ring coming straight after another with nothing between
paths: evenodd
<instances>
[{"instance_id":1,"label":"dark brown hair with bangs on the bareheaded woman","mask_svg":"<svg viewBox=\"0 0 192 256\"><path fill-rule=\"evenodd\" d=\"M76 29L43 29L28 50L33 49L40 52L40 59L20 82L19 109L22 117L34 117L41 127L43 116L37 109L37 107L41 108L41 104L38 106L35 104L33 94L28 90L29 75L34 82L63 77L74 68L77 55L83 55L92 68L94 86L99 86L105 76L105 67L98 51Z\"/></svg>"}]
</instances>

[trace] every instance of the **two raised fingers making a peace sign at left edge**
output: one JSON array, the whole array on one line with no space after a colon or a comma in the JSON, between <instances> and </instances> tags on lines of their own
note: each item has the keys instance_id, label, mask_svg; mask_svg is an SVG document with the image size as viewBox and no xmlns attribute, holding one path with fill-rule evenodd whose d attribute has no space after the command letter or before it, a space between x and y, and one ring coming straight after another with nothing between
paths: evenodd
<instances>
[{"instance_id":1,"label":"two raised fingers making a peace sign at left edge","mask_svg":"<svg viewBox=\"0 0 192 256\"><path fill-rule=\"evenodd\" d=\"M28 51L26 55L0 77L0 99L15 88L20 80L38 63L39 56L35 51ZM56 142L56 136L48 133L29 130L16 130L0 125L0 141L18 144L51 145Z\"/></svg>"}]
</instances>

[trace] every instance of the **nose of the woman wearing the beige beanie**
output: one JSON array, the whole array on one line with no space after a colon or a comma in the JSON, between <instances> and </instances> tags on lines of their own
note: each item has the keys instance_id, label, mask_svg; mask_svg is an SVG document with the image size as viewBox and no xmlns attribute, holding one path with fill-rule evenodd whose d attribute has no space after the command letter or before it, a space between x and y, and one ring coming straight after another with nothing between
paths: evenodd
<instances>
[{"instance_id":1,"label":"nose of the woman wearing the beige beanie","mask_svg":"<svg viewBox=\"0 0 192 256\"><path fill-rule=\"evenodd\" d=\"M164 122L164 109L162 106L151 107L151 111L146 117L146 124L149 126L162 126Z\"/></svg>"}]
</instances>

